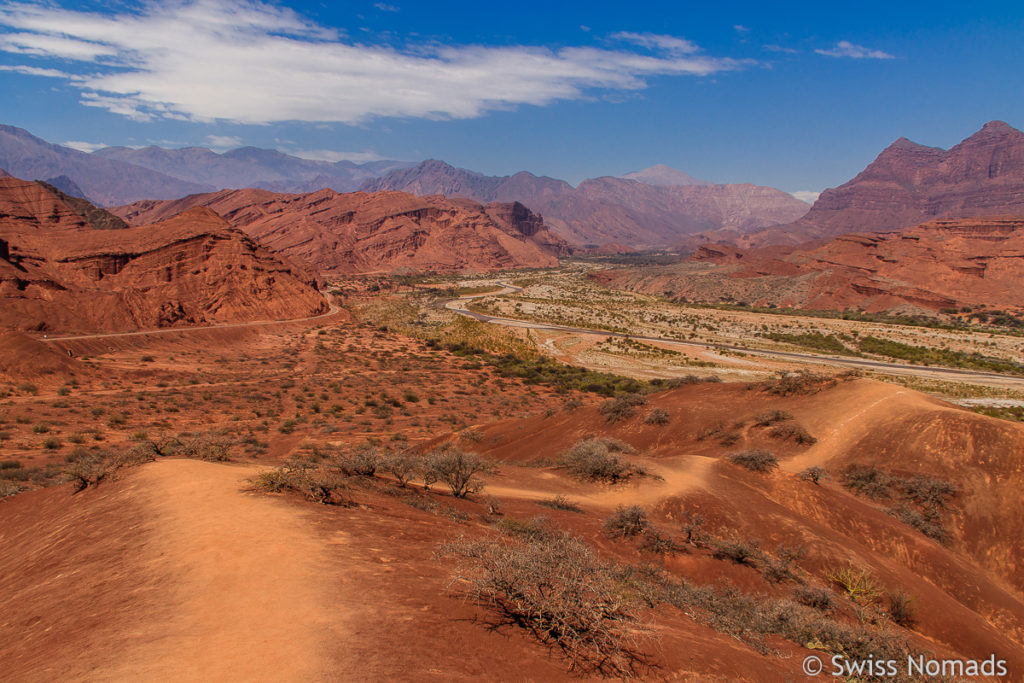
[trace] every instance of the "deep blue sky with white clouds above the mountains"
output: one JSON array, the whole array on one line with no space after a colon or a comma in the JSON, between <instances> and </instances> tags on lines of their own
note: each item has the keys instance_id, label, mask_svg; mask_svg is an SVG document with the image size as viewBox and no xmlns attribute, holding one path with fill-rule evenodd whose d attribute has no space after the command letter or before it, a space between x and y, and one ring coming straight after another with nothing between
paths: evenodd
<instances>
[{"instance_id":1,"label":"deep blue sky with white clouds above the mountains","mask_svg":"<svg viewBox=\"0 0 1024 683\"><path fill-rule=\"evenodd\" d=\"M1024 126L1022 45L1020 2L0 0L0 122L819 190L901 135Z\"/></svg>"}]
</instances>

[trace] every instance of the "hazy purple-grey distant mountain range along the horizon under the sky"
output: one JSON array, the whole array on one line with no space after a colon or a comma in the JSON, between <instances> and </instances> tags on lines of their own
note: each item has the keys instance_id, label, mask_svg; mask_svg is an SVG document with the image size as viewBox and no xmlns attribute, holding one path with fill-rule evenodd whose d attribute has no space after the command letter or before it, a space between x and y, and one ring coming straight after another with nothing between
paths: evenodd
<instances>
[{"instance_id":1,"label":"hazy purple-grey distant mountain range along the horizon under the sky","mask_svg":"<svg viewBox=\"0 0 1024 683\"><path fill-rule=\"evenodd\" d=\"M527 172L486 176L435 160L330 163L256 147L224 154L106 147L85 154L11 126L0 126L0 168L108 207L248 187L295 194L390 189L481 204L520 202L543 214L560 238L581 245L669 246L693 232L745 233L807 211L806 204L772 187L716 185L660 165L573 187Z\"/></svg>"}]
</instances>

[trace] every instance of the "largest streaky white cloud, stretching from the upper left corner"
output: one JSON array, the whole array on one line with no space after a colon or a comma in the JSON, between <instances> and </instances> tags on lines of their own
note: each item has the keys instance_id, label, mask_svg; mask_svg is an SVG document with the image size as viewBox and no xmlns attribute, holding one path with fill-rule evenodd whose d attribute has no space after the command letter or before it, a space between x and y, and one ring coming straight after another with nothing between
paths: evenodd
<instances>
[{"instance_id":1,"label":"largest streaky white cloud, stretching from the upper left corner","mask_svg":"<svg viewBox=\"0 0 1024 683\"><path fill-rule=\"evenodd\" d=\"M346 41L255 0L153 2L121 14L7 3L0 26L16 32L0 50L77 63L83 73L69 81L84 104L141 121L473 118L639 90L652 76L708 76L751 63L695 54L697 46L682 38L633 33L616 37L647 53L434 44L402 51Z\"/></svg>"}]
</instances>

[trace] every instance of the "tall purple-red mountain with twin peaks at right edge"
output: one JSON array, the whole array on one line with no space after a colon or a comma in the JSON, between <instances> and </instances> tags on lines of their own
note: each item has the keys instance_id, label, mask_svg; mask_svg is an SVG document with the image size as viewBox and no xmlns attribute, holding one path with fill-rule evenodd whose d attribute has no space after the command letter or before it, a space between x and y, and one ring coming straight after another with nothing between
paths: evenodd
<instances>
[{"instance_id":1,"label":"tall purple-red mountain with twin peaks at right edge","mask_svg":"<svg viewBox=\"0 0 1024 683\"><path fill-rule=\"evenodd\" d=\"M948 151L901 137L853 180L823 191L800 220L738 244L798 244L995 214L1024 214L1024 133L1001 121Z\"/></svg>"}]
</instances>

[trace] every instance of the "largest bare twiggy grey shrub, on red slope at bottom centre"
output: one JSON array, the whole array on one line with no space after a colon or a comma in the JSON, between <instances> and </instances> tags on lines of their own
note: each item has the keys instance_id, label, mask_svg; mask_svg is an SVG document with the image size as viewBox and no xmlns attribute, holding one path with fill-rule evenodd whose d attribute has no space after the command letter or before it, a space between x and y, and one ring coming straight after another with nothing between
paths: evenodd
<instances>
[{"instance_id":1,"label":"largest bare twiggy grey shrub, on red slope at bottom centre","mask_svg":"<svg viewBox=\"0 0 1024 683\"><path fill-rule=\"evenodd\" d=\"M453 584L511 624L557 647L571 669L633 674L638 620L612 566L568 536L532 543L460 539L439 555L455 557Z\"/></svg>"}]
</instances>

